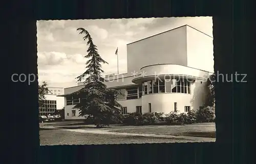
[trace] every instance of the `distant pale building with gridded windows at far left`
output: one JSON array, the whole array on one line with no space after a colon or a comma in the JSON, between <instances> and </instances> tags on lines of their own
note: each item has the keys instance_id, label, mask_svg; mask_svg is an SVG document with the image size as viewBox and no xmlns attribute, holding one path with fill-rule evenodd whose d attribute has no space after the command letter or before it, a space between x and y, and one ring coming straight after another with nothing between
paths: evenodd
<instances>
[{"instance_id":1,"label":"distant pale building with gridded windows at far left","mask_svg":"<svg viewBox=\"0 0 256 164\"><path fill-rule=\"evenodd\" d=\"M61 110L65 106L65 98L57 97L64 94L64 88L48 87L50 93L45 95L44 106L39 108L39 115L53 115L56 110Z\"/></svg>"}]
</instances>

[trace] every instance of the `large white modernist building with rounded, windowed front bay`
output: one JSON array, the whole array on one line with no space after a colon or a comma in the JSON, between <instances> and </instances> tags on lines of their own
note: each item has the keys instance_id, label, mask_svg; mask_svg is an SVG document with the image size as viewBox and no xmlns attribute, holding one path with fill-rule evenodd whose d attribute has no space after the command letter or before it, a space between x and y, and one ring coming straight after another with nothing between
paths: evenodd
<instances>
[{"instance_id":1,"label":"large white modernist building with rounded, windowed front bay","mask_svg":"<svg viewBox=\"0 0 256 164\"><path fill-rule=\"evenodd\" d=\"M120 89L123 113L188 112L204 105L206 79L214 72L213 38L184 25L127 44L127 73L105 76L108 88ZM82 119L74 110L83 87L65 88L65 119Z\"/></svg>"}]
</instances>

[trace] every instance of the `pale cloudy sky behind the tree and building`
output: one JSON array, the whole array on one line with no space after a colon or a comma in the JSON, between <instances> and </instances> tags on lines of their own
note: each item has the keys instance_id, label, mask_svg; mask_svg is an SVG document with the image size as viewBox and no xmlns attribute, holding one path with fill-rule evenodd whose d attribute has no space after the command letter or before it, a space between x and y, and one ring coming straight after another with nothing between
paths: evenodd
<instances>
[{"instance_id":1,"label":"pale cloudy sky behind the tree and building","mask_svg":"<svg viewBox=\"0 0 256 164\"><path fill-rule=\"evenodd\" d=\"M77 85L75 78L85 71L83 56L88 49L77 28L89 31L99 54L109 63L102 65L105 74L117 73L118 47L122 74L127 70L126 44L183 25L212 36L212 17L37 21L38 82L47 81L52 87Z\"/></svg>"}]
</instances>

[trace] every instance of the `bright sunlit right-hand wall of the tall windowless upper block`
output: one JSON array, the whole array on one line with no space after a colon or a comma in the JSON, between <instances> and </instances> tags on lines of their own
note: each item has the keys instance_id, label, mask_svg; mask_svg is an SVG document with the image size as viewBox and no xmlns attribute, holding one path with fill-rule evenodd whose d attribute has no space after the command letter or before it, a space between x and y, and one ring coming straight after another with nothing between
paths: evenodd
<instances>
[{"instance_id":1,"label":"bright sunlit right-hand wall of the tall windowless upper block","mask_svg":"<svg viewBox=\"0 0 256 164\"><path fill-rule=\"evenodd\" d=\"M214 73L213 38L187 26L187 66Z\"/></svg>"}]
</instances>

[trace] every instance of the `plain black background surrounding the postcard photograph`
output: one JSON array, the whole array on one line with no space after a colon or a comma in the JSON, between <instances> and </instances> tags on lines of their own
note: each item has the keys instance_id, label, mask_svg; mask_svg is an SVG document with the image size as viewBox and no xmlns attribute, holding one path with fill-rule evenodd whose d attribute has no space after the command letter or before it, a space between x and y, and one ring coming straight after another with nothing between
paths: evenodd
<instances>
[{"instance_id":1,"label":"plain black background surrounding the postcard photograph","mask_svg":"<svg viewBox=\"0 0 256 164\"><path fill-rule=\"evenodd\" d=\"M203 0L28 0L3 6L9 19L1 27L2 71L7 73L3 79L8 79L8 84L2 85L8 87L3 87L6 100L1 135L6 138L1 163L250 163L253 89L249 85L254 77L249 5ZM39 146L38 83L29 86L11 81L14 73L37 74L36 20L178 16L213 16L215 71L247 74L244 84L216 84L216 143Z\"/></svg>"}]
</instances>

